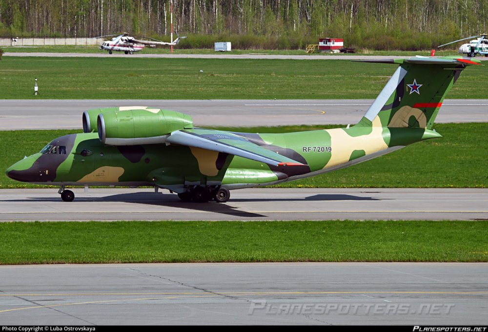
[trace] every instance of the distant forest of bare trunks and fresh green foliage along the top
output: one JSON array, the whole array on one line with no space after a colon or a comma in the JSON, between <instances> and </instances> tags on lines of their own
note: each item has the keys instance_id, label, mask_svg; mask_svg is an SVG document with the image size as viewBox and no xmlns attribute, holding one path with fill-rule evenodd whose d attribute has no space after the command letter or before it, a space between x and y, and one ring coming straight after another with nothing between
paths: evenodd
<instances>
[{"instance_id":1,"label":"distant forest of bare trunks and fresh green foliage along the top","mask_svg":"<svg viewBox=\"0 0 488 332\"><path fill-rule=\"evenodd\" d=\"M348 47L418 50L486 32L488 0L173 0L180 47L302 49L319 37ZM170 0L0 0L0 37L169 40Z\"/></svg>"}]
</instances>

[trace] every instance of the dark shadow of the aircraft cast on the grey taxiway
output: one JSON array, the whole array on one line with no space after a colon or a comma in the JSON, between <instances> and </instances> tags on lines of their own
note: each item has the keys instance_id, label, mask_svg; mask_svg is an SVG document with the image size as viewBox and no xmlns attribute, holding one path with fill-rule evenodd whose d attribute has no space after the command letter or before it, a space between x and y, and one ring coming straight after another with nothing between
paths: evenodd
<instances>
[{"instance_id":1,"label":"dark shadow of the aircraft cast on the grey taxiway","mask_svg":"<svg viewBox=\"0 0 488 332\"><path fill-rule=\"evenodd\" d=\"M80 197L78 196L75 199L74 203L66 203L66 204L76 204L76 202L125 202L125 203L137 203L137 204L147 204L147 205L157 205L157 206L165 206L165 207L180 207L186 208L191 210L199 210L205 212L215 212L215 213L222 213L232 216L239 216L239 217L266 217L265 215L253 212L247 212L238 210L235 207L232 207L231 204L234 202L300 202L300 201L380 201L383 199L378 199L374 197L364 197L364 196L355 196L355 195L347 195L347 194L316 194L307 196L305 198L245 198L245 199L231 199L226 204L218 204L215 202L208 202L208 203L191 203L191 202L182 202L177 195L175 194L162 194L162 193L154 193L154 192L134 192L134 193L124 193L124 194L117 194L117 195L110 195L105 197ZM16 202L57 202L61 201L59 198L40 198L40 197L33 197L24 200L12 200Z\"/></svg>"}]
</instances>

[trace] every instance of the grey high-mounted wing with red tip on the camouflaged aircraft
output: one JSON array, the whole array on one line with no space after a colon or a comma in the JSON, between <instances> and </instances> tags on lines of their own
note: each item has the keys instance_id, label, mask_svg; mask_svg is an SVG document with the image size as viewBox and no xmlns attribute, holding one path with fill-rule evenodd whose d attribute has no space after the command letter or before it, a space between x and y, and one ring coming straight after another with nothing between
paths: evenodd
<instances>
[{"instance_id":1,"label":"grey high-mounted wing with red tip on the camouflaged aircraft","mask_svg":"<svg viewBox=\"0 0 488 332\"><path fill-rule=\"evenodd\" d=\"M273 166L304 166L296 160L256 145L245 138L220 130L183 129L173 131L166 142L224 152Z\"/></svg>"}]
</instances>

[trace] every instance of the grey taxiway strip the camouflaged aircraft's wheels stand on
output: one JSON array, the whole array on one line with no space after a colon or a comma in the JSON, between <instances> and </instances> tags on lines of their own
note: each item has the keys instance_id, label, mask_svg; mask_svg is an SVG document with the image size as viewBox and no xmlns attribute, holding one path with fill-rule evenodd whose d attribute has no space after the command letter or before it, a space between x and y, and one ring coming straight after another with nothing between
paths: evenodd
<instances>
[{"instance_id":1,"label":"grey taxiway strip the camouflaged aircraft's wheels stand on","mask_svg":"<svg viewBox=\"0 0 488 332\"><path fill-rule=\"evenodd\" d=\"M0 190L0 221L488 220L488 189L251 188L225 204L184 203L153 189Z\"/></svg>"}]
</instances>

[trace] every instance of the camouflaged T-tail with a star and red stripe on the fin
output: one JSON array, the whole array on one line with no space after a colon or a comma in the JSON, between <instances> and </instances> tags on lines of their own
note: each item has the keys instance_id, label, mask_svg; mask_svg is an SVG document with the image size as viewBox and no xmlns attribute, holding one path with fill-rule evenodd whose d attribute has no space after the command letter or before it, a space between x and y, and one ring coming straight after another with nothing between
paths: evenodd
<instances>
[{"instance_id":1,"label":"camouflaged T-tail with a star and red stripe on the fin","mask_svg":"<svg viewBox=\"0 0 488 332\"><path fill-rule=\"evenodd\" d=\"M459 75L480 61L463 57L360 60L400 66L357 126L432 129L444 98Z\"/></svg>"}]
</instances>

